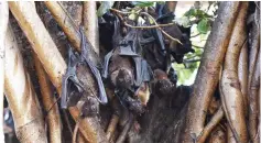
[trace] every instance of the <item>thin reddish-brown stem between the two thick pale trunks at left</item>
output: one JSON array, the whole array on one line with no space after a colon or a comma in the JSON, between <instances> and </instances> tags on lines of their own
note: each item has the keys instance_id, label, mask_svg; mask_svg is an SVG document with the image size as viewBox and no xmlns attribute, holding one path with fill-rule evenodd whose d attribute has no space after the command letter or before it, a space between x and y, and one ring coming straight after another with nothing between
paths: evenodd
<instances>
[{"instance_id":1,"label":"thin reddish-brown stem between the two thick pale trunks at left","mask_svg":"<svg viewBox=\"0 0 261 143\"><path fill-rule=\"evenodd\" d=\"M55 103L57 100L54 97L54 90L52 90L51 81L47 78L47 75L40 63L37 55L33 54L33 59L35 64L35 69L39 77L41 96L44 109L47 113L47 125L48 125L48 136L51 143L61 143L62 142L62 122L58 111L58 105Z\"/></svg>"}]
</instances>

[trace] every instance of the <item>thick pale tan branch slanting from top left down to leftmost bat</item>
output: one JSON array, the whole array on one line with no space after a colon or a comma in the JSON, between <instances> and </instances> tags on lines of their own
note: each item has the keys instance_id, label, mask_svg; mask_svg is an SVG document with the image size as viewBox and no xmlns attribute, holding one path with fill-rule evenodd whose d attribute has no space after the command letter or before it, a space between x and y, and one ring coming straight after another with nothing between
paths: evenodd
<instances>
[{"instance_id":1,"label":"thick pale tan branch slanting from top left down to leftmost bat","mask_svg":"<svg viewBox=\"0 0 261 143\"><path fill-rule=\"evenodd\" d=\"M9 2L10 10L29 38L55 87L62 87L66 64L35 11L34 2Z\"/></svg>"}]
</instances>

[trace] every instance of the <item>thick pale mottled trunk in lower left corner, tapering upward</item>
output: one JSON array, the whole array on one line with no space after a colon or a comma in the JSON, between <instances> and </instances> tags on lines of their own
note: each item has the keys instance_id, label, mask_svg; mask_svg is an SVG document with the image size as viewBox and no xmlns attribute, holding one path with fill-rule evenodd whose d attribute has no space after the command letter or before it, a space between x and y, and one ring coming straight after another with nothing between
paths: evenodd
<instances>
[{"instance_id":1,"label":"thick pale mottled trunk in lower left corner, tapering upward","mask_svg":"<svg viewBox=\"0 0 261 143\"><path fill-rule=\"evenodd\" d=\"M4 91L21 143L47 143L43 116L18 43L9 26L6 38Z\"/></svg>"}]
</instances>

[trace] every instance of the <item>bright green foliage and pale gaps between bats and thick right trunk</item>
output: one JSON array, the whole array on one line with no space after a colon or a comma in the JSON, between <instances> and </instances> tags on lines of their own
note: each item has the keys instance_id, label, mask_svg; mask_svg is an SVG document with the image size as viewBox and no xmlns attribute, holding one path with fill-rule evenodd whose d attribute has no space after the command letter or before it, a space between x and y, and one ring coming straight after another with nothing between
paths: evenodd
<instances>
[{"instance_id":1,"label":"bright green foliage and pale gaps between bats and thick right trunk","mask_svg":"<svg viewBox=\"0 0 261 143\"><path fill-rule=\"evenodd\" d=\"M194 82L197 68L200 64L200 62L197 61L200 59L204 51L204 48L198 48L197 46L204 47L206 43L206 38L211 30L210 23L216 16L215 10L209 12L209 9L216 8L216 6L217 2L209 2L207 10L203 10L202 7L194 6L187 12L185 12L183 16L175 19L177 24L185 28L191 26L192 35L197 35L196 37L191 38L195 53L186 54L183 64L173 64L178 77L177 85L191 85ZM195 23L195 21L197 22Z\"/></svg>"}]
</instances>

